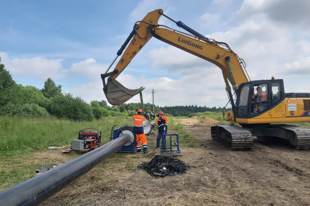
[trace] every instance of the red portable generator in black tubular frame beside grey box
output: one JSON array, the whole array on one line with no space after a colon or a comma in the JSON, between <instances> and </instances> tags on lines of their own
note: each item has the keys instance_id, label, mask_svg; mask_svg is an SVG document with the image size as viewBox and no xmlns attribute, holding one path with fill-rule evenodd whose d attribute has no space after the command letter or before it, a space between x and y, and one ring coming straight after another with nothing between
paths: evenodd
<instances>
[{"instance_id":1,"label":"red portable generator in black tubular frame beside grey box","mask_svg":"<svg viewBox=\"0 0 310 206\"><path fill-rule=\"evenodd\" d=\"M86 130L96 130L96 131L86 131ZM101 143L101 132L98 129L87 128L82 129L78 132L78 139L83 140L84 148L93 149L96 146L99 147Z\"/></svg>"}]
</instances>

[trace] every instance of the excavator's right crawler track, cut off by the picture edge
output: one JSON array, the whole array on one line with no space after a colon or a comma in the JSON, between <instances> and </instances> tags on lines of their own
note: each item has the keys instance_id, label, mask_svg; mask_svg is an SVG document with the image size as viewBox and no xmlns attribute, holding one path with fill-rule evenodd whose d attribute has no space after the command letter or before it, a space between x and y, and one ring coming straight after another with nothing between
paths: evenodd
<instances>
[{"instance_id":1,"label":"excavator's right crawler track, cut off by the picture edge","mask_svg":"<svg viewBox=\"0 0 310 206\"><path fill-rule=\"evenodd\" d=\"M285 131L290 145L296 149L310 149L310 129L288 124L271 124L268 127Z\"/></svg>"}]
</instances>

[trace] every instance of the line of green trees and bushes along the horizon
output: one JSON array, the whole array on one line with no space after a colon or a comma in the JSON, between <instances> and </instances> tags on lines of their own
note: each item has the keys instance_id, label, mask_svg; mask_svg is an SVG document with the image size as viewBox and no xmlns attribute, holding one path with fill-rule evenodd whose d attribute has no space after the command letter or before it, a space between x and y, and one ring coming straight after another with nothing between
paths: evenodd
<instances>
[{"instance_id":1,"label":"line of green trees and bushes along the horizon","mask_svg":"<svg viewBox=\"0 0 310 206\"><path fill-rule=\"evenodd\" d=\"M104 116L133 116L141 108L141 103L124 103L119 106L108 106L105 100L86 103L81 97L63 94L61 85L48 78L44 87L16 84L0 57L0 115L8 116L55 116L75 121L91 121ZM144 110L153 111L153 105L144 104ZM216 107L174 106L158 107L154 112L163 111L165 115L194 116L197 112L221 111ZM145 112L144 111L144 112Z\"/></svg>"}]
</instances>

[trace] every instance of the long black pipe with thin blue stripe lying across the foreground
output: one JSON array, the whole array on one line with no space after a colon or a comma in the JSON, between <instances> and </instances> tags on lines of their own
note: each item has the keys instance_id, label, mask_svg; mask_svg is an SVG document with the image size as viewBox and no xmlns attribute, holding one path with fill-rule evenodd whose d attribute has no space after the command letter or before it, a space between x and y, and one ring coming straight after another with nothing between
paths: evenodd
<instances>
[{"instance_id":1,"label":"long black pipe with thin blue stripe lying across the foreground","mask_svg":"<svg viewBox=\"0 0 310 206\"><path fill-rule=\"evenodd\" d=\"M0 205L38 205L110 157L130 140L124 134L101 147L0 192Z\"/></svg>"}]
</instances>

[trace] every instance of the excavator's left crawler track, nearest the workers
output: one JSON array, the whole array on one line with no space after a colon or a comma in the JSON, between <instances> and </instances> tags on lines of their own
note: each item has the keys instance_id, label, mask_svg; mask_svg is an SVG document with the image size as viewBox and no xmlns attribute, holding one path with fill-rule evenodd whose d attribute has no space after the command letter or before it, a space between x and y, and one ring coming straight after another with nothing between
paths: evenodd
<instances>
[{"instance_id":1,"label":"excavator's left crawler track, nearest the workers","mask_svg":"<svg viewBox=\"0 0 310 206\"><path fill-rule=\"evenodd\" d=\"M232 150L252 149L251 132L235 125L215 125L211 127L211 138L225 142Z\"/></svg>"}]
</instances>

